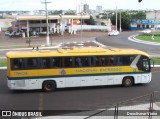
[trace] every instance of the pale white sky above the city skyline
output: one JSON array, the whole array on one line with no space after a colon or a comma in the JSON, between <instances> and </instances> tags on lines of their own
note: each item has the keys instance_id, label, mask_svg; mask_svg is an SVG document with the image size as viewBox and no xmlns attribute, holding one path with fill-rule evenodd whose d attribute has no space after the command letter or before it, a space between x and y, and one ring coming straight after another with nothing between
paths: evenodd
<instances>
[{"instance_id":1,"label":"pale white sky above the city skyline","mask_svg":"<svg viewBox=\"0 0 160 119\"><path fill-rule=\"evenodd\" d=\"M0 11L33 11L44 10L45 0L0 0ZM78 5L88 4L89 9L96 10L97 5L101 5L102 9L154 9L160 10L160 0L47 0L48 10L76 10Z\"/></svg>"}]
</instances>

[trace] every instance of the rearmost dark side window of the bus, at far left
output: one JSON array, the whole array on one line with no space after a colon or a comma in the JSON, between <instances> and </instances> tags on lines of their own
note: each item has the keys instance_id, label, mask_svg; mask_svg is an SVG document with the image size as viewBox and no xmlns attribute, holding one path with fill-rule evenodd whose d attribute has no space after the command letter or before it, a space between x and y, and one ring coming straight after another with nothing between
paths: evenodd
<instances>
[{"instance_id":1,"label":"rearmost dark side window of the bus, at far left","mask_svg":"<svg viewBox=\"0 0 160 119\"><path fill-rule=\"evenodd\" d=\"M22 58L12 59L11 62L12 70L24 69L24 60Z\"/></svg>"}]
</instances>

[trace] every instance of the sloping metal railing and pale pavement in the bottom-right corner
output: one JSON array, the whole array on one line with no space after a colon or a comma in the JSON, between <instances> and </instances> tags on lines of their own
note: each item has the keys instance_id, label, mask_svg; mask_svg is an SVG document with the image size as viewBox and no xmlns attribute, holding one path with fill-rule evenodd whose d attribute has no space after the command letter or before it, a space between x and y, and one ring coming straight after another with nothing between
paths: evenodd
<instances>
[{"instance_id":1,"label":"sloping metal railing and pale pavement in the bottom-right corner","mask_svg":"<svg viewBox=\"0 0 160 119\"><path fill-rule=\"evenodd\" d=\"M122 101L84 119L160 119L160 92Z\"/></svg>"}]
</instances>

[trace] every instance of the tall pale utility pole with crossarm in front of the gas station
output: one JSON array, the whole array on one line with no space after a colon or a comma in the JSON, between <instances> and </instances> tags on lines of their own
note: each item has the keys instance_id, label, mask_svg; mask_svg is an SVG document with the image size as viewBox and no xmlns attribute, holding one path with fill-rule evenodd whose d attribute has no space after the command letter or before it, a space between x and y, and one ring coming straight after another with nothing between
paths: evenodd
<instances>
[{"instance_id":1,"label":"tall pale utility pole with crossarm in front of the gas station","mask_svg":"<svg viewBox=\"0 0 160 119\"><path fill-rule=\"evenodd\" d=\"M47 36L46 36L46 45L49 46L50 45L50 40L49 40L49 27L48 27L48 10L47 10L47 4L51 3L51 2L47 2L47 0L45 0L45 2L41 2L42 4L45 4L45 11L46 11L46 25L47 25Z\"/></svg>"}]
</instances>

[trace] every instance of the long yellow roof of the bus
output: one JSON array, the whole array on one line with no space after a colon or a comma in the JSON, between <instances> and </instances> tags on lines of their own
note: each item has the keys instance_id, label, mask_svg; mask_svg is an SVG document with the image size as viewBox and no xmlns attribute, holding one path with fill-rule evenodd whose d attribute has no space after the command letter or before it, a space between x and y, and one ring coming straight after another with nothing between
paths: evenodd
<instances>
[{"instance_id":1,"label":"long yellow roof of the bus","mask_svg":"<svg viewBox=\"0 0 160 119\"><path fill-rule=\"evenodd\" d=\"M30 51L10 51L6 54L9 58L18 57L50 57L50 56L93 56L93 55L134 55L141 54L149 56L147 53L135 49L118 49L102 47L75 47L59 48L57 50L30 50Z\"/></svg>"}]
</instances>

